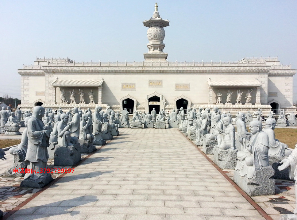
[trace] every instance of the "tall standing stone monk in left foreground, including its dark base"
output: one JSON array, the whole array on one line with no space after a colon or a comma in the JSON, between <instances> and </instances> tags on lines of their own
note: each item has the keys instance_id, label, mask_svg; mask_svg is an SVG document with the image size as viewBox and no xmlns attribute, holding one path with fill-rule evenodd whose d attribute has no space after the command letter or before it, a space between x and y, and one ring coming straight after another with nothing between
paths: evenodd
<instances>
[{"instance_id":1,"label":"tall standing stone monk in left foreground, including its dark base","mask_svg":"<svg viewBox=\"0 0 297 220\"><path fill-rule=\"evenodd\" d=\"M44 107L35 106L33 115L28 120L27 135L28 149L25 162L28 163L27 169L36 173L26 173L21 187L42 188L51 182L52 176L45 172L48 161L49 136L50 130L44 126L41 118L44 116Z\"/></svg>"}]
</instances>

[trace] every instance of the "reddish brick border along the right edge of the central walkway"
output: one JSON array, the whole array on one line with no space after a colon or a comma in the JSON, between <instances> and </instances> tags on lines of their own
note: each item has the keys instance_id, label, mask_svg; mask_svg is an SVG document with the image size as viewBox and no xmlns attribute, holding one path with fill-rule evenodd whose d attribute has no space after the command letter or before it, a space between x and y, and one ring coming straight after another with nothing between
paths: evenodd
<instances>
[{"instance_id":1,"label":"reddish brick border along the right edge of the central walkway","mask_svg":"<svg viewBox=\"0 0 297 220\"><path fill-rule=\"evenodd\" d=\"M230 179L229 176L226 175L224 171L221 170L221 168L218 167L217 164L215 164L210 158L203 153L201 149L199 149L198 146L196 146L189 138L187 138L185 135L183 135L184 138L186 138L192 145L195 146L196 149L220 172L231 184L232 186L237 189L237 191L246 199L248 202L266 219L266 220L273 220L251 197L249 197L245 191L243 191L236 183L233 182L232 179Z\"/></svg>"}]
</instances>

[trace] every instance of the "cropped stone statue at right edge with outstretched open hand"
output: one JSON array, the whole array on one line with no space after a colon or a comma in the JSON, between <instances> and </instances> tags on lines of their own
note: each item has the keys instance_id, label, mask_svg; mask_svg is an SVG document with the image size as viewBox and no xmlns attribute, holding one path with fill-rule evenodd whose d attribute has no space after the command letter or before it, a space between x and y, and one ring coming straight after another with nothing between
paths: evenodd
<instances>
[{"instance_id":1,"label":"cropped stone statue at right edge with outstretched open hand","mask_svg":"<svg viewBox=\"0 0 297 220\"><path fill-rule=\"evenodd\" d=\"M290 179L295 179L295 196L297 195L297 144L295 145L294 150L292 153L285 158L284 160L280 161L282 164L278 167L280 171L289 168L289 176ZM282 215L280 220L289 220L289 219L297 219L297 199L295 202L295 209L294 214Z\"/></svg>"}]
</instances>

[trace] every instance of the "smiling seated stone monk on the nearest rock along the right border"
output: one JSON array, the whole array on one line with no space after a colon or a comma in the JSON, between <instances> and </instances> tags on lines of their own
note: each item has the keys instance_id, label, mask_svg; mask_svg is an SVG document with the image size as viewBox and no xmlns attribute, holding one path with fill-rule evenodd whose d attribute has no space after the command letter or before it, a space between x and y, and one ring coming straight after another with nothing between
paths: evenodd
<instances>
[{"instance_id":1,"label":"smiling seated stone monk on the nearest rock along the right border","mask_svg":"<svg viewBox=\"0 0 297 220\"><path fill-rule=\"evenodd\" d=\"M250 122L252 137L250 141L241 138L243 149L237 152L237 165L235 170L240 176L253 178L255 171L269 166L268 161L268 135L262 131L262 123L258 120Z\"/></svg>"}]
</instances>

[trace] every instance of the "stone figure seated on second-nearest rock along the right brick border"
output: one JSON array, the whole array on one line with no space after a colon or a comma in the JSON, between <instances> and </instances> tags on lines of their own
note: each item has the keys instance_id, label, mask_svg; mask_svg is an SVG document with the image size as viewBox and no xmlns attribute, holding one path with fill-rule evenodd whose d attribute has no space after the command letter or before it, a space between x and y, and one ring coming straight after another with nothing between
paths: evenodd
<instances>
[{"instance_id":1,"label":"stone figure seated on second-nearest rock along the right brick border","mask_svg":"<svg viewBox=\"0 0 297 220\"><path fill-rule=\"evenodd\" d=\"M235 148L235 128L231 123L231 118L226 116L222 119L223 125L225 127L222 133L222 142L218 147L221 150L234 149Z\"/></svg>"}]
</instances>

